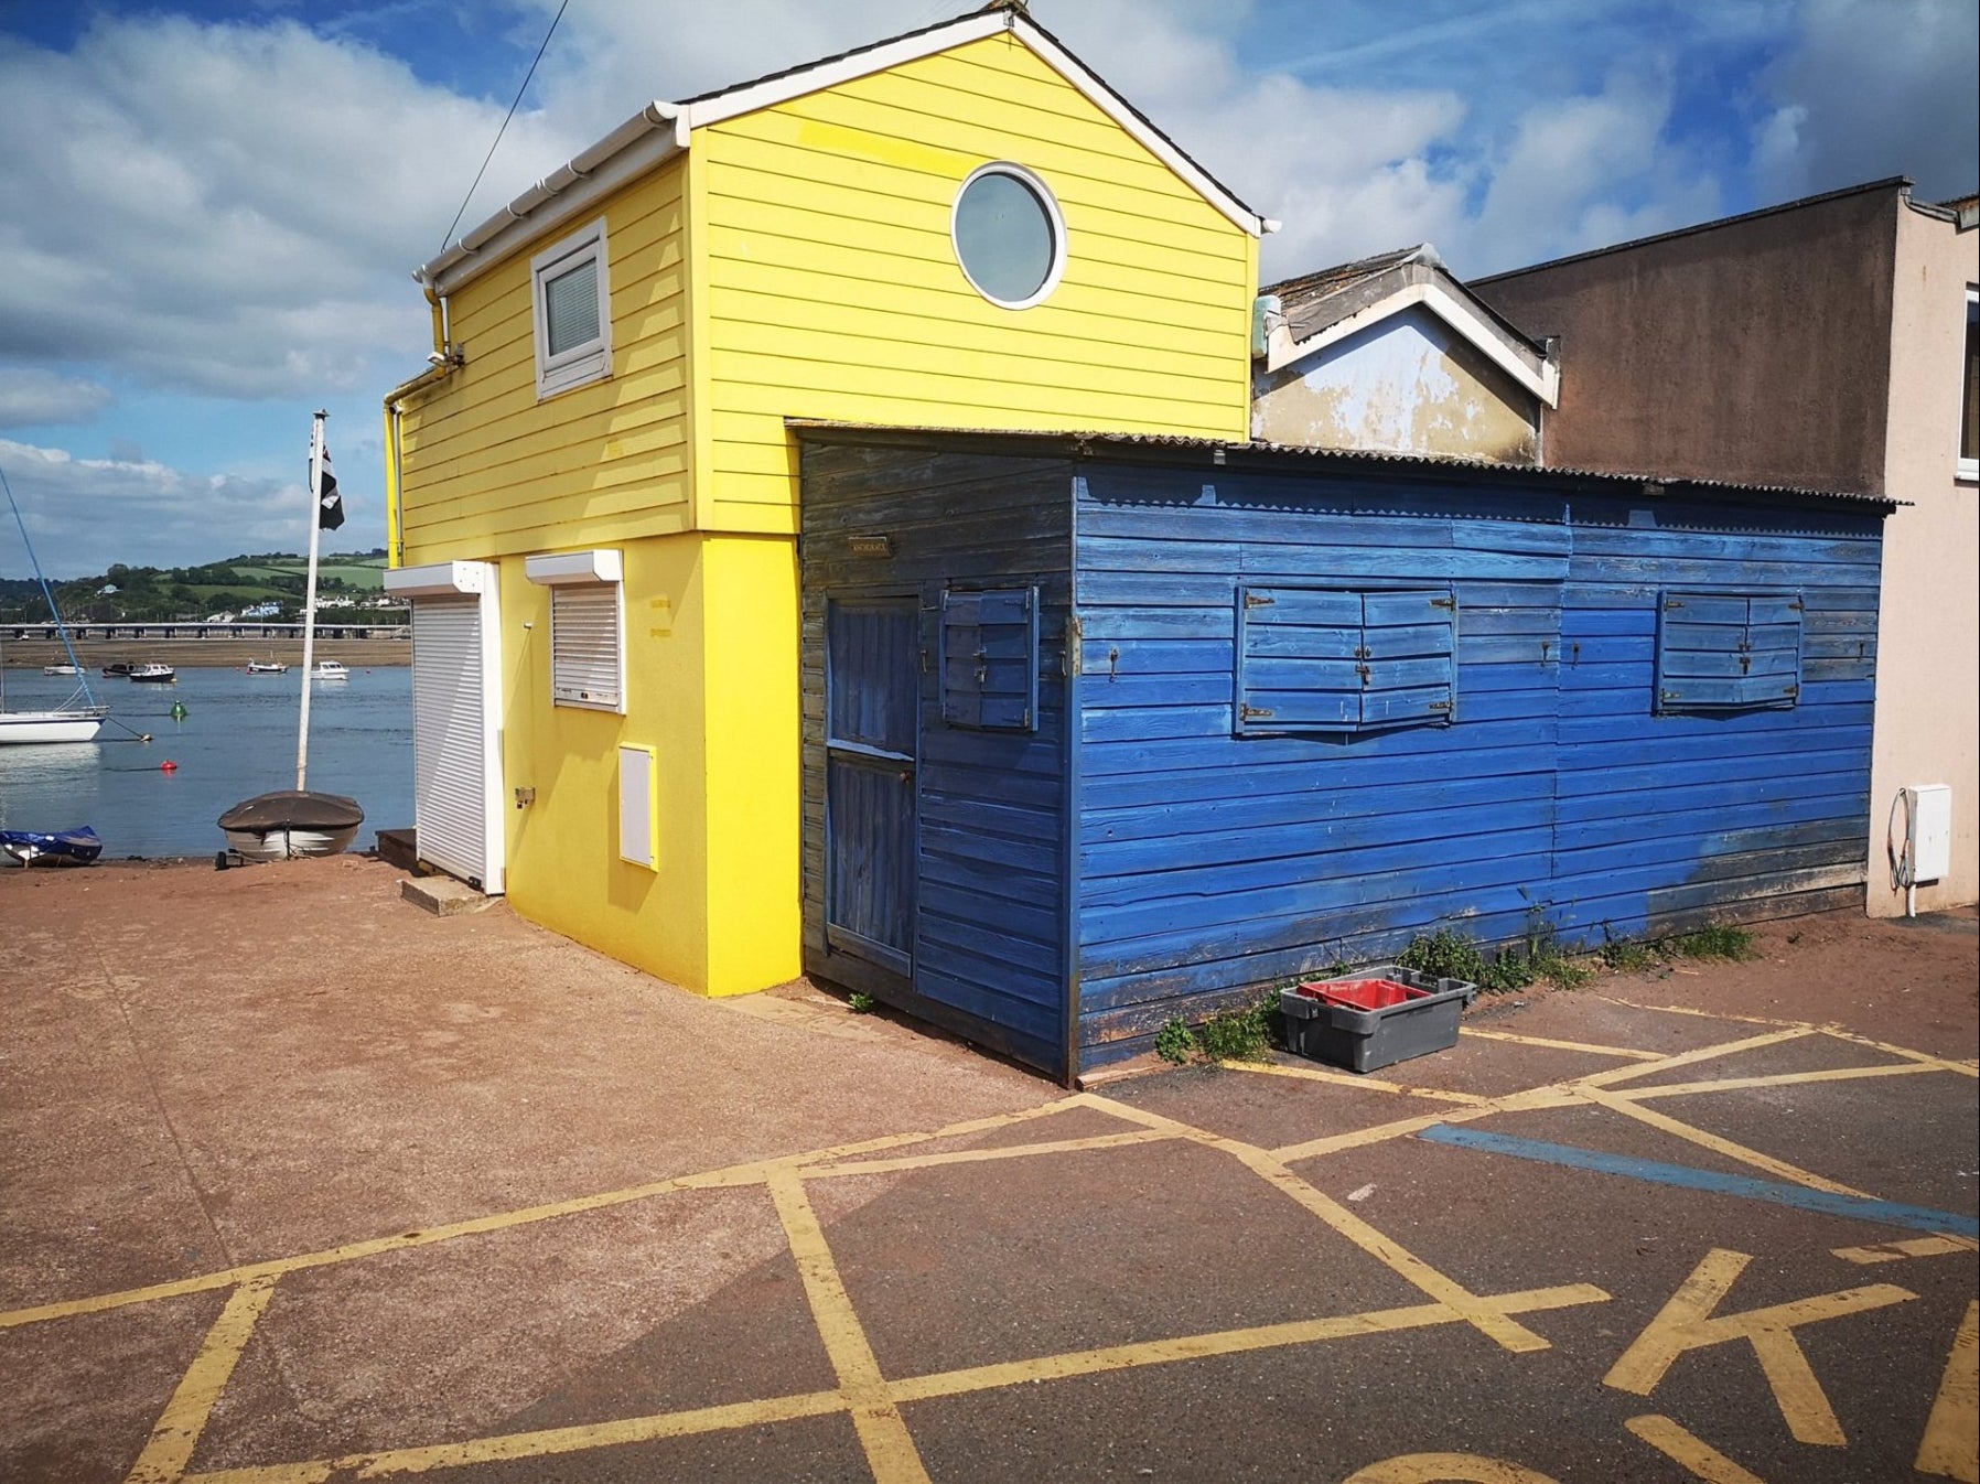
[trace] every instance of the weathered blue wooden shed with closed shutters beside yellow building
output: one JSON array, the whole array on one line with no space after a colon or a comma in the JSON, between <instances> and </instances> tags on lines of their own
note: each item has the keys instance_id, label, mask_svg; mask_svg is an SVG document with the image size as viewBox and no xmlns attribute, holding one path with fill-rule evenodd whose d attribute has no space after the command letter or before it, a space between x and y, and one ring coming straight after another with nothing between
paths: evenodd
<instances>
[{"instance_id":1,"label":"weathered blue wooden shed with closed shutters beside yellow building","mask_svg":"<svg viewBox=\"0 0 1980 1484\"><path fill-rule=\"evenodd\" d=\"M1883 499L800 438L814 975L1073 1080L1443 923L1861 901Z\"/></svg>"}]
</instances>

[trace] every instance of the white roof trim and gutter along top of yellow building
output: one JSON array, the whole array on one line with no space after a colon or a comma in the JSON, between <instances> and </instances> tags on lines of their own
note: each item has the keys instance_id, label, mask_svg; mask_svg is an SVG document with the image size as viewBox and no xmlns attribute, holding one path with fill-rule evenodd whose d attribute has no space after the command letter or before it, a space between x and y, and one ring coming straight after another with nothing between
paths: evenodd
<instances>
[{"instance_id":1,"label":"white roof trim and gutter along top of yellow building","mask_svg":"<svg viewBox=\"0 0 1980 1484\"><path fill-rule=\"evenodd\" d=\"M1204 174L1180 149L1138 113L1135 113L1107 83L1087 69L1071 52L1045 36L1036 22L1010 12L988 10L962 16L948 26L937 26L919 36L857 52L849 57L814 67L798 67L782 77L735 87L701 103L647 103L610 135L552 170L521 196L511 200L481 226L414 271L420 283L436 293L453 293L461 283L493 267L531 240L594 210L610 192L628 184L655 164L681 155L695 129L735 119L756 109L768 109L790 99L838 87L855 77L869 77L921 57L933 57L968 42L980 42L1010 32L1024 42L1047 67L1059 73L1101 113L1121 125L1142 149L1174 170L1198 196L1218 208L1253 238L1277 232L1279 224L1261 218L1224 186Z\"/></svg>"}]
</instances>

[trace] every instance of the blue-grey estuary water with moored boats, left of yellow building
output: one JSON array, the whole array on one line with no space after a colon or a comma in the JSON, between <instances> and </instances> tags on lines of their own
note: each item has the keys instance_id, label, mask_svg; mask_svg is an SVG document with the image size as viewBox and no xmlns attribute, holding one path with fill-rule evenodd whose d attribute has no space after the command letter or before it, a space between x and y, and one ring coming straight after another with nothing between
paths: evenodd
<instances>
[{"instance_id":1,"label":"blue-grey estuary water with moored boats, left of yellow building","mask_svg":"<svg viewBox=\"0 0 1980 1484\"><path fill-rule=\"evenodd\" d=\"M295 787L301 666L285 676L178 668L174 686L89 678L111 707L93 743L0 747L0 828L91 826L103 860L208 856L226 844L216 820L242 798ZM75 676L10 670L10 711L59 705ZM182 705L184 717L172 707ZM131 733L150 733L148 743ZM160 763L176 763L162 769ZM364 806L352 850L378 830L412 826L412 670L350 668L309 697L309 787Z\"/></svg>"}]
</instances>

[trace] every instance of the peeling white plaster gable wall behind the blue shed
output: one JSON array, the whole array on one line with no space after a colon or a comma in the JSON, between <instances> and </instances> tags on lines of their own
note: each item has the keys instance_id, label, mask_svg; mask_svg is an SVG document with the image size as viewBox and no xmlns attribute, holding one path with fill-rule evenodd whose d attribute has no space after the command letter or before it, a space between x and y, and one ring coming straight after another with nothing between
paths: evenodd
<instances>
[{"instance_id":1,"label":"peeling white plaster gable wall behind the blue shed","mask_svg":"<svg viewBox=\"0 0 1980 1484\"><path fill-rule=\"evenodd\" d=\"M1534 464L1538 402L1424 307L1251 378L1251 434Z\"/></svg>"}]
</instances>

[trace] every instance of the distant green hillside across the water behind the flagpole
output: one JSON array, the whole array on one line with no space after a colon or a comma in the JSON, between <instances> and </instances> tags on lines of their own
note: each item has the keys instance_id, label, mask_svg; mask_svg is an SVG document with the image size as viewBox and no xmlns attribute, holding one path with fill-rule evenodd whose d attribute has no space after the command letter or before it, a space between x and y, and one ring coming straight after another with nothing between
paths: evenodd
<instances>
[{"instance_id":1,"label":"distant green hillside across the water behind the flagpole","mask_svg":"<svg viewBox=\"0 0 1980 1484\"><path fill-rule=\"evenodd\" d=\"M382 596L384 549L337 551L317 559L317 600ZM238 614L273 602L281 618L301 614L309 586L309 557L261 551L202 567L125 567L113 563L99 577L71 577L50 584L61 616L71 622L198 620L216 612ZM40 584L0 579L0 622L44 622L48 604Z\"/></svg>"}]
</instances>

